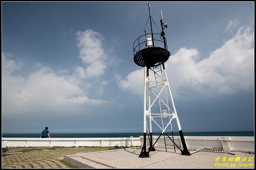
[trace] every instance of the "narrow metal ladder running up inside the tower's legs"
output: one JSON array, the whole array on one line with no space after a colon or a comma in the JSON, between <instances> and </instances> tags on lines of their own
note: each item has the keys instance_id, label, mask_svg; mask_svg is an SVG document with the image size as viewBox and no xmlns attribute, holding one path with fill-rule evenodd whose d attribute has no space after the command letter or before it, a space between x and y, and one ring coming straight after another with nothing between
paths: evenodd
<instances>
[{"instance_id":1,"label":"narrow metal ladder running up inside the tower's legs","mask_svg":"<svg viewBox=\"0 0 256 170\"><path fill-rule=\"evenodd\" d=\"M157 67L157 66L156 66ZM154 74L155 74L155 82L156 82L156 89L157 89L157 94L159 95L159 106L160 106L160 112L161 112L161 119L162 119L162 128L164 129L166 127L166 125L170 122L169 126L170 129L165 130L165 132L168 134L168 132L172 133L171 138L174 141L174 137L173 137L173 128L172 128L172 123L171 123L171 117L173 114L173 111L170 109L169 104L168 104L168 98L167 98L167 93L166 93L166 87L164 87L166 80L163 79L163 74L162 74L162 67L161 65L159 66L159 70L156 70L154 67ZM163 89L163 90L162 90ZM161 91L162 90L162 91ZM161 92L161 93L160 93ZM159 94L160 93L160 94ZM170 114L171 112L171 114ZM170 136L168 134L168 136ZM175 145L174 142L173 144L166 144L166 138L169 139L169 137L167 137L164 134L164 144L165 144L165 150L167 151L167 145L171 145L174 146L174 151L176 152L175 149Z\"/></svg>"}]
</instances>

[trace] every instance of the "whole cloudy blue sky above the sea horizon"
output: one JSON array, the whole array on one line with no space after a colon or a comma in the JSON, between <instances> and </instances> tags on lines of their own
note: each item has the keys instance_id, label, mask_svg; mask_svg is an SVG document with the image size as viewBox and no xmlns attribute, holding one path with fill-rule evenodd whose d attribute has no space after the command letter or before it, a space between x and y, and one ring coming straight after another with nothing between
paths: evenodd
<instances>
[{"instance_id":1,"label":"whole cloudy blue sky above the sea horizon","mask_svg":"<svg viewBox=\"0 0 256 170\"><path fill-rule=\"evenodd\" d=\"M254 131L254 2L149 3L182 131ZM2 133L143 133L148 18L147 2L2 2Z\"/></svg>"}]
</instances>

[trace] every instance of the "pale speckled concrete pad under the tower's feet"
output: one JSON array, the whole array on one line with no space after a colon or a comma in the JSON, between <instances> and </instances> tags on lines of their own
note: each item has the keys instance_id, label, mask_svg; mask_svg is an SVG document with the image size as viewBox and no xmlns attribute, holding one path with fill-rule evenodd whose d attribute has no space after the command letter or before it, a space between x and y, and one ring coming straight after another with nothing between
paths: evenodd
<instances>
[{"instance_id":1,"label":"pale speckled concrete pad under the tower's feet","mask_svg":"<svg viewBox=\"0 0 256 170\"><path fill-rule=\"evenodd\" d=\"M254 168L254 155L242 152L199 151L191 156L181 155L180 150L155 148L149 158L139 158L141 148L77 153L67 155L64 161L79 168ZM191 151L192 152L192 151ZM233 161L229 158L233 158ZM240 161L235 161L239 157ZM245 161L242 159L246 157ZM249 157L253 157L249 161ZM229 159L229 161L228 161ZM224 161L223 161L224 160ZM239 166L243 163L244 166Z\"/></svg>"}]
</instances>

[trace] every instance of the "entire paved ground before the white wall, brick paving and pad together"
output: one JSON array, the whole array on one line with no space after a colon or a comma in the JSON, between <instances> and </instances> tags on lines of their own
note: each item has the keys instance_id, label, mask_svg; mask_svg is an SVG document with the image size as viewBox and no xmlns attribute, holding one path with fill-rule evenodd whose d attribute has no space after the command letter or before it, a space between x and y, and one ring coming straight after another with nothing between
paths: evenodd
<instances>
[{"instance_id":1,"label":"entire paved ground before the white wall, brick paving and pad together","mask_svg":"<svg viewBox=\"0 0 256 170\"><path fill-rule=\"evenodd\" d=\"M2 148L2 168L254 168L254 154L199 151L183 156L176 149L156 147L149 158L141 148ZM190 150L190 152L192 152ZM235 155L233 155L235 154ZM66 164L66 162L70 164Z\"/></svg>"}]
</instances>

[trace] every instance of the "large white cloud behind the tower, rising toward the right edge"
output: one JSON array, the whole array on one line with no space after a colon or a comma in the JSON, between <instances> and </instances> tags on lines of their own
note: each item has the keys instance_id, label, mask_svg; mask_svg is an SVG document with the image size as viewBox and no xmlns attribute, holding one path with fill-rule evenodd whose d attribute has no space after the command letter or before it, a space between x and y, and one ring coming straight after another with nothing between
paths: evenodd
<instances>
[{"instance_id":1,"label":"large white cloud behind the tower, rising toward the right edge","mask_svg":"<svg viewBox=\"0 0 256 170\"><path fill-rule=\"evenodd\" d=\"M180 48L165 63L174 96L188 96L195 90L203 96L233 94L251 90L254 85L254 32L241 27L237 34L198 61L197 49ZM143 93L143 69L116 76L119 87L134 94Z\"/></svg>"}]
</instances>

